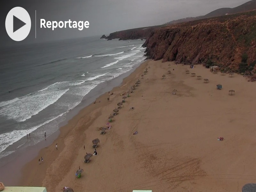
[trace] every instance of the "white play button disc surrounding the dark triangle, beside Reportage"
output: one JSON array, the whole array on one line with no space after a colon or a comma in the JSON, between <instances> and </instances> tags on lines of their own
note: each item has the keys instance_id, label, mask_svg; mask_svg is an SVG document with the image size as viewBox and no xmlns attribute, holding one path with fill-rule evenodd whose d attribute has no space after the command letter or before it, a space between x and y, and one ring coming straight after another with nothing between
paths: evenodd
<instances>
[{"instance_id":1,"label":"white play button disc surrounding the dark triangle, beside Reportage","mask_svg":"<svg viewBox=\"0 0 256 192\"><path fill-rule=\"evenodd\" d=\"M13 18L16 18L16 20L20 20L20 22L25 23L25 25L23 24L22 27L16 29L13 32ZM22 41L24 40L31 29L31 19L30 16L28 14L28 12L26 11L26 9L22 8L22 7L14 7L12 8L5 19L5 29L6 32L8 34L8 36L14 40L14 41Z\"/></svg>"}]
</instances>

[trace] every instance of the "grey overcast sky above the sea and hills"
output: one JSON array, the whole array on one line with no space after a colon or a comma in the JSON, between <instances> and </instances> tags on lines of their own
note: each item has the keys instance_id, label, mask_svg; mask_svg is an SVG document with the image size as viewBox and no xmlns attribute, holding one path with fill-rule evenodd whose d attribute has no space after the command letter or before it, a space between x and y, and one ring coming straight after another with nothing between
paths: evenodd
<instances>
[{"instance_id":1,"label":"grey overcast sky above the sea and hills","mask_svg":"<svg viewBox=\"0 0 256 192\"><path fill-rule=\"evenodd\" d=\"M31 31L24 42L41 42L84 36L109 35L111 32L161 25L166 22L205 15L215 9L236 7L248 0L2 0L1 25L12 7L25 8L31 18ZM36 32L35 39L35 10ZM41 29L40 19L89 21L90 27L78 29ZM1 42L8 44L5 27L1 28ZM6 41L5 41L6 40Z\"/></svg>"}]
</instances>

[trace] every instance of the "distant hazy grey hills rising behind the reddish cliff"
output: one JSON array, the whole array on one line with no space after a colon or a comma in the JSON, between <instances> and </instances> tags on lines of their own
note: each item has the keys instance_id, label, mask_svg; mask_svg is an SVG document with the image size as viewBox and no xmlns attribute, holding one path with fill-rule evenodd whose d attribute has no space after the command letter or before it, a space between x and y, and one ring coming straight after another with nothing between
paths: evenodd
<instances>
[{"instance_id":1,"label":"distant hazy grey hills rising behind the reddish cliff","mask_svg":"<svg viewBox=\"0 0 256 192\"><path fill-rule=\"evenodd\" d=\"M226 14L236 14L240 12L248 12L256 9L256 0L248 1L242 5L239 5L234 8L220 8L216 9L206 15L203 16L197 16L197 17L187 17L179 20L172 20L168 22L167 24L177 24L177 23L184 23L188 21L194 21L194 20L200 20L200 19L207 19L211 17L219 17L224 16Z\"/></svg>"}]
</instances>

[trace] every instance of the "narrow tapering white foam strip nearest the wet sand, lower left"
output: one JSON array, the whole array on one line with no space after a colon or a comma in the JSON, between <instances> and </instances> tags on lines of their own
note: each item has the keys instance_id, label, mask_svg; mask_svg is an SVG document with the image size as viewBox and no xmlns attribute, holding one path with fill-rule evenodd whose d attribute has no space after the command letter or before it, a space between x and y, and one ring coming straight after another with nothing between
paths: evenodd
<instances>
[{"instance_id":1,"label":"narrow tapering white foam strip nearest the wet sand, lower left","mask_svg":"<svg viewBox=\"0 0 256 192\"><path fill-rule=\"evenodd\" d=\"M61 117L65 113L55 116L52 119L49 119L49 120L45 121L44 123L41 123L34 127L31 127L29 129L13 130L12 132L6 132L3 134L0 134L0 152L2 152L4 149L6 149L8 146L12 145L16 141L20 140L22 137L25 137L28 133L31 133L31 132L35 131L36 129L38 129L39 127L41 127L47 123L50 123L51 121L57 119L58 117Z\"/></svg>"}]
</instances>

